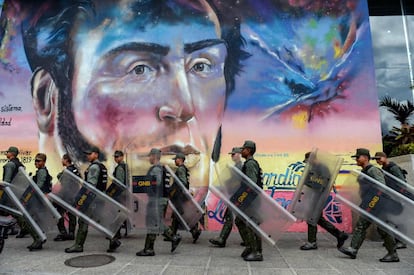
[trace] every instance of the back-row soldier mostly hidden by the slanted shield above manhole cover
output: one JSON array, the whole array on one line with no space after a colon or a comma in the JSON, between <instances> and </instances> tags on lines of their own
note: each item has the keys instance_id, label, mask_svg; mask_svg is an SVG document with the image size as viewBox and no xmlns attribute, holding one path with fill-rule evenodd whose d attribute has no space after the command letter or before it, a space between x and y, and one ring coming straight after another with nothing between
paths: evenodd
<instances>
[{"instance_id":1,"label":"back-row soldier mostly hidden by the slanted shield above manhole cover","mask_svg":"<svg viewBox=\"0 0 414 275\"><path fill-rule=\"evenodd\" d=\"M70 158L68 154L64 154L62 156L62 165L63 167L65 167L64 169L69 170L70 172L78 176L79 178L81 177L81 174L78 168L72 163L72 159ZM60 179L62 174L63 174L63 171L57 175L57 178ZM58 212L60 213L60 215L62 216L62 218L59 219L58 224L57 224L58 229L59 229L59 234L53 240L56 242L75 240L76 216L70 213L69 211L66 211L65 208L59 206L58 204L55 204L55 206ZM64 218L65 214L69 218L69 230L68 231L66 231L66 227L65 227L65 218Z\"/></svg>"}]
</instances>

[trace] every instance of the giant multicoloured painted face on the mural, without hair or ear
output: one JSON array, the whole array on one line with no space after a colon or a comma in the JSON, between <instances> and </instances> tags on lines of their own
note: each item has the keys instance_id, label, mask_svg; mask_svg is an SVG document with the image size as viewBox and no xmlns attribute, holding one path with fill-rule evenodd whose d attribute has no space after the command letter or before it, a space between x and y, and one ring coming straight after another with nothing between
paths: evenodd
<instances>
[{"instance_id":1,"label":"giant multicoloured painted face on the mural, without hair or ear","mask_svg":"<svg viewBox=\"0 0 414 275\"><path fill-rule=\"evenodd\" d=\"M93 28L80 23L73 37L80 133L107 154L125 151L133 173L148 169L151 147L161 149L162 162L182 152L192 184L206 186L226 93L227 50L216 18L160 17L139 28L142 19L122 6L113 15Z\"/></svg>"}]
</instances>

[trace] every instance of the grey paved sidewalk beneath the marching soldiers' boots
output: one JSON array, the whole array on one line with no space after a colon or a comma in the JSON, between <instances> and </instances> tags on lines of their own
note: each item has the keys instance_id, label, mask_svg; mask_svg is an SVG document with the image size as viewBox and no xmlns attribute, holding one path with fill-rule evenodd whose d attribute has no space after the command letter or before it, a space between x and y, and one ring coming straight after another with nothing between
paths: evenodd
<instances>
[{"instance_id":1,"label":"grey paved sidewalk beneath the marching soldiers' boots","mask_svg":"<svg viewBox=\"0 0 414 275\"><path fill-rule=\"evenodd\" d=\"M136 233L122 238L121 247L115 253L107 253L108 240L90 228L83 253L67 254L64 248L73 241L54 242L48 236L43 250L29 252L30 237L16 239L9 236L0 254L0 274L414 274L414 248L398 250L399 263L378 261L386 254L382 242L366 240L355 260L336 249L336 240L327 233L318 233L318 249L301 251L299 246L306 240L306 233L285 233L275 247L263 243L263 262L245 262L240 257L238 233L232 233L225 248L210 245L208 239L217 232L203 232L196 244L191 234L180 233L183 240L174 253L171 243L159 236L155 243L154 257L137 257L135 253L144 247L145 234ZM345 243L349 245L349 239ZM78 256L106 254L115 257L109 264L99 267L75 268L65 261Z\"/></svg>"}]
</instances>

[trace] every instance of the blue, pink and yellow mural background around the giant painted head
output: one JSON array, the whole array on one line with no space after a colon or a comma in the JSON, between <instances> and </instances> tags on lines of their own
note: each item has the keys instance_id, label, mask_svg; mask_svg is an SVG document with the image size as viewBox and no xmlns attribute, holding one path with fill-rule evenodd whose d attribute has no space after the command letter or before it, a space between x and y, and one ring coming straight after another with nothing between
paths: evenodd
<instances>
[{"instance_id":1,"label":"blue, pink and yellow mural background around the giant painted head","mask_svg":"<svg viewBox=\"0 0 414 275\"><path fill-rule=\"evenodd\" d=\"M300 180L303 155L317 147L345 159L338 184L354 168L355 148L381 149L381 133L366 1L215 1L238 14L250 57L237 76L222 123L222 161L246 139L257 144L265 190L284 207ZM21 148L33 171L38 127L30 95L32 72L16 1L5 1L0 26L1 151ZM5 157L1 162L5 163ZM60 163L49 162L52 173ZM113 167L113 163L108 163ZM220 228L223 205L208 197L209 230ZM325 217L350 230L349 210L334 200ZM292 230L304 230L296 224Z\"/></svg>"}]
</instances>

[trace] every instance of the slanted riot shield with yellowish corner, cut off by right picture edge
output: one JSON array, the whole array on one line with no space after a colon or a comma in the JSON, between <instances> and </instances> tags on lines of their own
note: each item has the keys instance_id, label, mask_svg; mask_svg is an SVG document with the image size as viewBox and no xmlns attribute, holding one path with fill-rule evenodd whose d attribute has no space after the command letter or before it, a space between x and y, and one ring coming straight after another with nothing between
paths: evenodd
<instances>
[{"instance_id":1,"label":"slanted riot shield with yellowish corner, cut off by right picture edge","mask_svg":"<svg viewBox=\"0 0 414 275\"><path fill-rule=\"evenodd\" d=\"M385 180L386 185L353 170L336 198L398 239L414 245L414 201L388 186L399 181L397 178L385 174Z\"/></svg>"}]
</instances>

